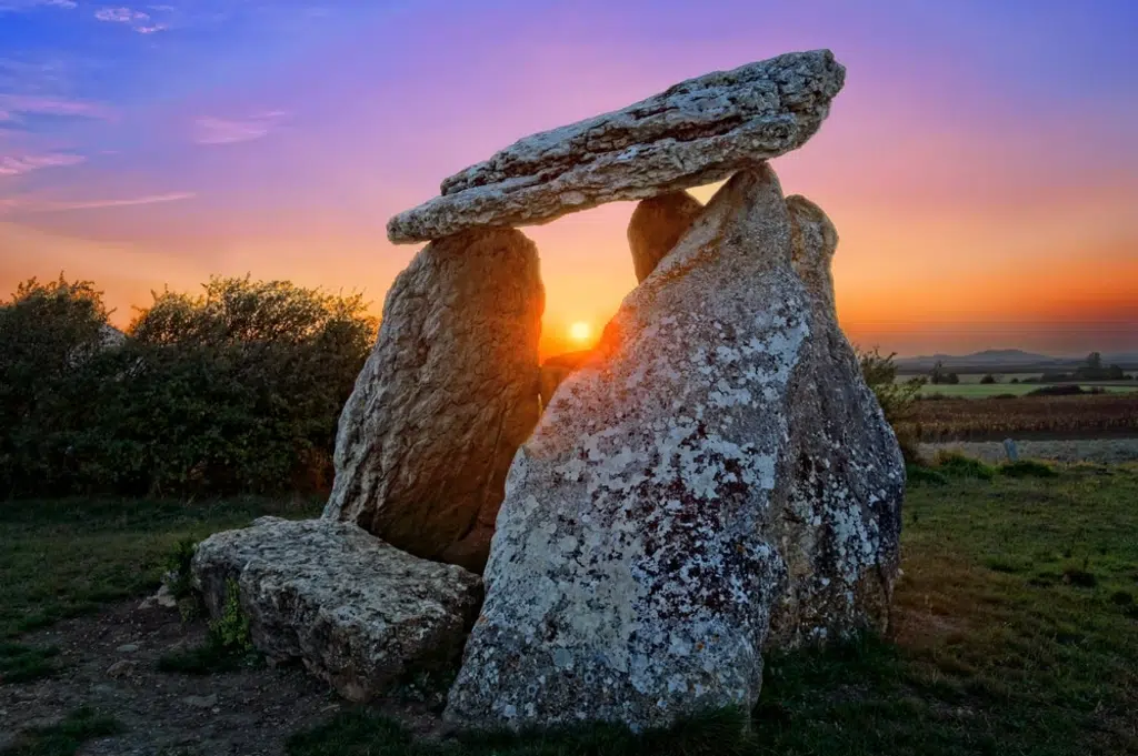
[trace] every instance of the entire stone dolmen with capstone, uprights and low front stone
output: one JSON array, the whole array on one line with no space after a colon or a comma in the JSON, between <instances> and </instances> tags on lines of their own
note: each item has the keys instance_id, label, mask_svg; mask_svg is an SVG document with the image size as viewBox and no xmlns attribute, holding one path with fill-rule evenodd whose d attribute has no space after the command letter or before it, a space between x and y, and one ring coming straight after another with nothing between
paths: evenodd
<instances>
[{"instance_id":1,"label":"entire stone dolmen with capstone, uprights and low front stone","mask_svg":"<svg viewBox=\"0 0 1138 756\"><path fill-rule=\"evenodd\" d=\"M461 653L444 716L465 730L750 711L764 651L888 630L901 454L838 324L838 233L768 163L844 74L819 50L682 82L391 218L428 243L387 294L323 516L201 543L211 609L236 585L258 648L357 700ZM724 180L706 206L685 191ZM617 200L640 200L640 284L550 384L517 226Z\"/></svg>"}]
</instances>

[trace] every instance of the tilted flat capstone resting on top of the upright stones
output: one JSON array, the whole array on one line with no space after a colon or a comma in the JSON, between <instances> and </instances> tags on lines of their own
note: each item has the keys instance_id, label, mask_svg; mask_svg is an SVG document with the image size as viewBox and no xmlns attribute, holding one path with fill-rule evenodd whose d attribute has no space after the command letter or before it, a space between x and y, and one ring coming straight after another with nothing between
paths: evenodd
<instances>
[{"instance_id":1,"label":"tilted flat capstone resting on top of the upright stones","mask_svg":"<svg viewBox=\"0 0 1138 756\"><path fill-rule=\"evenodd\" d=\"M801 147L846 69L828 50L792 52L692 78L622 110L527 136L445 180L393 217L396 243L479 226L541 224L615 200L721 181Z\"/></svg>"}]
</instances>

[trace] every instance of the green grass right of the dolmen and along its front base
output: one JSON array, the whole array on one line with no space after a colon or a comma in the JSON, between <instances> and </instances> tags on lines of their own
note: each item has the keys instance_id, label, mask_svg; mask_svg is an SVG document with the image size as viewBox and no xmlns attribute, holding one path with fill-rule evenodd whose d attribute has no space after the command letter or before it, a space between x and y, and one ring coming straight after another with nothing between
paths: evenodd
<instances>
[{"instance_id":1,"label":"green grass right of the dolmen and along its front base","mask_svg":"<svg viewBox=\"0 0 1138 756\"><path fill-rule=\"evenodd\" d=\"M908 493L896 638L769 655L748 738L728 714L650 742L588 726L431 743L355 712L289 754L1138 754L1138 467L950 467Z\"/></svg>"}]
</instances>

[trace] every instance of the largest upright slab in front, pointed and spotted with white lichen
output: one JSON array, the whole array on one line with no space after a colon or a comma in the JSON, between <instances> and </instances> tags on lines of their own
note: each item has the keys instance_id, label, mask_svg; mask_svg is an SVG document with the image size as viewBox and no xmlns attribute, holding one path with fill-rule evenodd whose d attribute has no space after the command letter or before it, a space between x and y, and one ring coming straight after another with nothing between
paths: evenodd
<instances>
[{"instance_id":1,"label":"largest upright slab in front, pointed and spotted with white lichen","mask_svg":"<svg viewBox=\"0 0 1138 756\"><path fill-rule=\"evenodd\" d=\"M778 181L740 173L519 450L450 722L750 709L785 580L764 523L786 493L808 317Z\"/></svg>"}]
</instances>

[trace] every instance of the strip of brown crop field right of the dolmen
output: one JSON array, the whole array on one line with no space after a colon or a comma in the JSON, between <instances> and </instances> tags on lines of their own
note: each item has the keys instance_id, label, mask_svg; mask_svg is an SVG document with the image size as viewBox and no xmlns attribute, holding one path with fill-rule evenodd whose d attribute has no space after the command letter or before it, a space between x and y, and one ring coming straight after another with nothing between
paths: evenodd
<instances>
[{"instance_id":1,"label":"strip of brown crop field right of the dolmen","mask_svg":"<svg viewBox=\"0 0 1138 756\"><path fill-rule=\"evenodd\" d=\"M1138 392L1013 399L923 399L902 430L921 441L1138 437Z\"/></svg>"}]
</instances>

